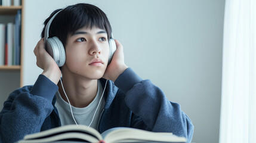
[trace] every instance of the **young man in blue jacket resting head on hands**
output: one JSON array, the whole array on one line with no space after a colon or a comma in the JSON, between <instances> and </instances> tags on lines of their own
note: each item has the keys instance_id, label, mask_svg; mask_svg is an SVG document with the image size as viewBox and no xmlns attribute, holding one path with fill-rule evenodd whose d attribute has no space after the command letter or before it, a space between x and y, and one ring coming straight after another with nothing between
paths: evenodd
<instances>
[{"instance_id":1,"label":"young man in blue jacket resting head on hands","mask_svg":"<svg viewBox=\"0 0 256 143\"><path fill-rule=\"evenodd\" d=\"M45 20L45 26L58 11ZM44 32L45 27L42 38ZM66 62L60 70L45 51L44 39L38 42L36 64L44 71L35 85L17 89L5 101L0 142L15 142L30 133L75 123L99 132L118 126L172 132L191 142L189 117L150 80L141 79L125 65L123 46L117 40L108 65L111 33L106 14L94 5L70 5L60 11L49 35L63 43Z\"/></svg>"}]
</instances>

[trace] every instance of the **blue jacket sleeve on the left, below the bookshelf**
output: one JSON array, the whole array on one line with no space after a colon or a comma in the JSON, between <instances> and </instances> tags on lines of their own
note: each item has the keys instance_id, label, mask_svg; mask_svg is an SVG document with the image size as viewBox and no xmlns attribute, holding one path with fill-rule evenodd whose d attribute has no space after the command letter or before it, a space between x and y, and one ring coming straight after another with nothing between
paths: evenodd
<instances>
[{"instance_id":1,"label":"blue jacket sleeve on the left, below the bookshelf","mask_svg":"<svg viewBox=\"0 0 256 143\"><path fill-rule=\"evenodd\" d=\"M12 92L0 112L0 142L16 142L27 134L40 132L42 123L53 111L58 86L44 75L35 85Z\"/></svg>"}]
</instances>

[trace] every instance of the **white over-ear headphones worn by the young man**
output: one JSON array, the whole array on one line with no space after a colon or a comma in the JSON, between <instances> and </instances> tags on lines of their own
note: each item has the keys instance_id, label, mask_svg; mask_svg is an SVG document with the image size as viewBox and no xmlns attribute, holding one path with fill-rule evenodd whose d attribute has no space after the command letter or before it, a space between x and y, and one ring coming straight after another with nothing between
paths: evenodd
<instances>
[{"instance_id":1,"label":"white over-ear headphones worn by the young man","mask_svg":"<svg viewBox=\"0 0 256 143\"><path fill-rule=\"evenodd\" d=\"M62 11L62 10L60 10ZM58 11L51 17L51 19L48 21L47 25L45 26L45 32L44 32L44 45L45 45L45 50L53 57L54 61L58 64L59 67L63 66L63 64L66 61L66 54L65 54L65 49L63 46L63 43L60 41L60 39L57 38L57 36L54 36L53 38L48 38L49 37L49 29L51 26L51 22L53 21L54 17L58 13ZM111 35L109 39L109 61L112 60L113 54L116 51L116 42L113 39L113 35Z\"/></svg>"}]
</instances>

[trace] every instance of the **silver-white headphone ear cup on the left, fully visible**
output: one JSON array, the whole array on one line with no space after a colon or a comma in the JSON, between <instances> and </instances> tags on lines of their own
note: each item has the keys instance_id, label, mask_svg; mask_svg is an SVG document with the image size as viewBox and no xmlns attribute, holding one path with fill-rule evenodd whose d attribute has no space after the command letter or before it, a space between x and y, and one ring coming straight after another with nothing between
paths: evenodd
<instances>
[{"instance_id":1,"label":"silver-white headphone ear cup on the left, fully visible","mask_svg":"<svg viewBox=\"0 0 256 143\"><path fill-rule=\"evenodd\" d=\"M60 39L58 39L56 36L53 38L48 38L45 49L51 55L51 57L53 57L57 65L62 67L66 61L66 54Z\"/></svg>"}]
</instances>

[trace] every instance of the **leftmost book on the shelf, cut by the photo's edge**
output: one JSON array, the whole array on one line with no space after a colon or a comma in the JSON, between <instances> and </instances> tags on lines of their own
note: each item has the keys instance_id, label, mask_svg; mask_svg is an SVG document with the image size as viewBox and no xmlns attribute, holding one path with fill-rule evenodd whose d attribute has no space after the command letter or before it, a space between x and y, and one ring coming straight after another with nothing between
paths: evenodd
<instances>
[{"instance_id":1,"label":"leftmost book on the shelf, cut by the photo's edge","mask_svg":"<svg viewBox=\"0 0 256 143\"><path fill-rule=\"evenodd\" d=\"M0 66L4 65L5 24L0 24Z\"/></svg>"}]
</instances>

